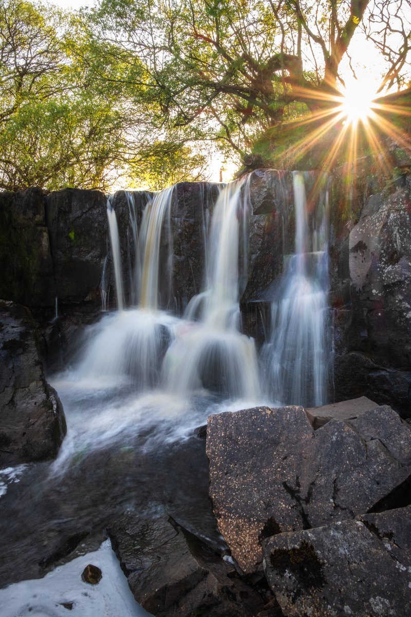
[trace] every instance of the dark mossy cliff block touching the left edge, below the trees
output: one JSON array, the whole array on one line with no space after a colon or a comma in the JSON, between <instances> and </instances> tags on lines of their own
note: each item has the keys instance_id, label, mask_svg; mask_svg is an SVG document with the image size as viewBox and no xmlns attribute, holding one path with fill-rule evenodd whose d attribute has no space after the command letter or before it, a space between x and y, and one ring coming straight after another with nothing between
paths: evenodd
<instances>
[{"instance_id":1,"label":"dark mossy cliff block touching the left edge, below the trees","mask_svg":"<svg viewBox=\"0 0 411 617\"><path fill-rule=\"evenodd\" d=\"M44 193L0 193L0 297L52 307L56 294Z\"/></svg>"}]
</instances>

